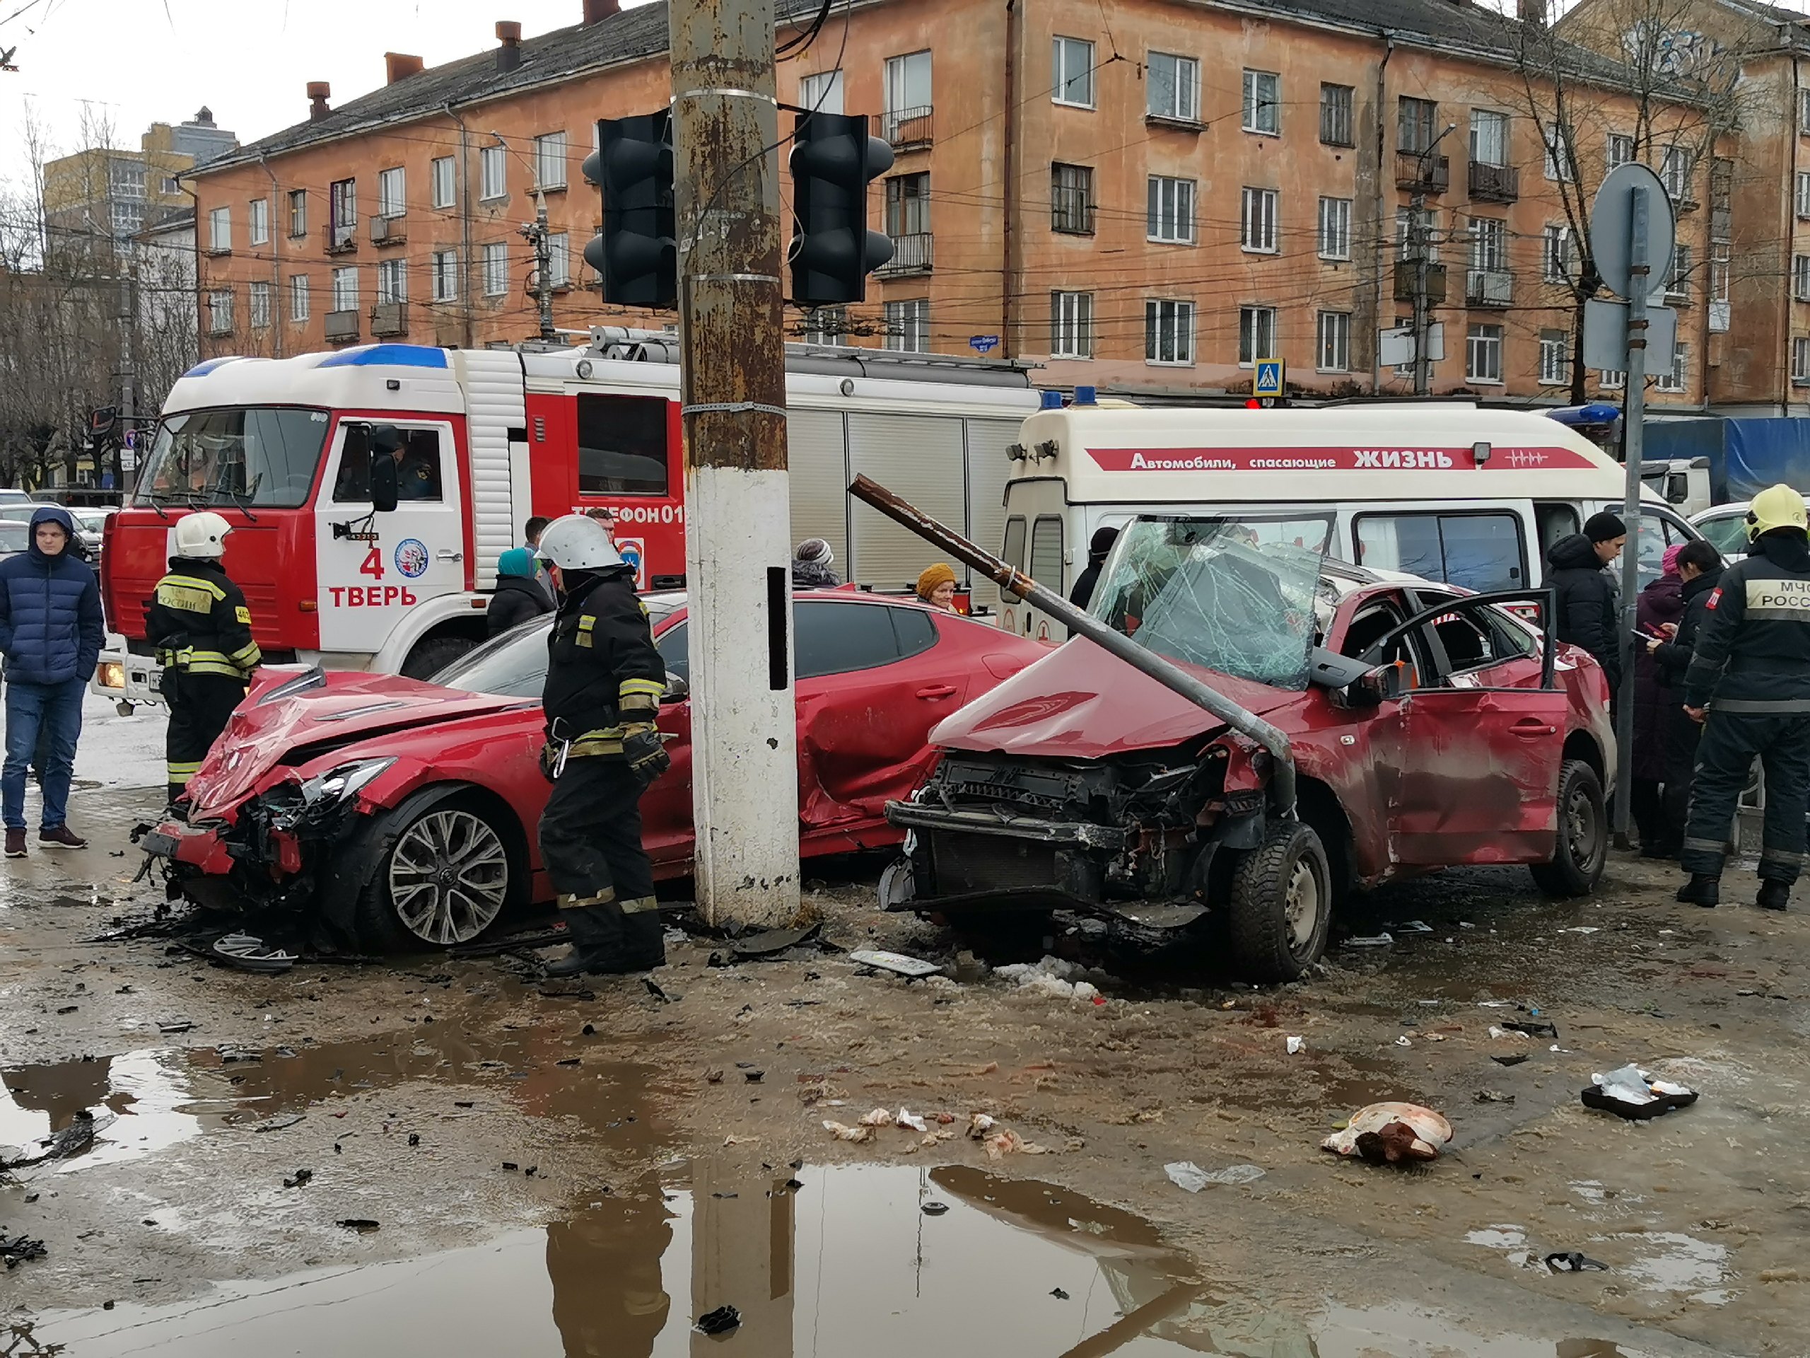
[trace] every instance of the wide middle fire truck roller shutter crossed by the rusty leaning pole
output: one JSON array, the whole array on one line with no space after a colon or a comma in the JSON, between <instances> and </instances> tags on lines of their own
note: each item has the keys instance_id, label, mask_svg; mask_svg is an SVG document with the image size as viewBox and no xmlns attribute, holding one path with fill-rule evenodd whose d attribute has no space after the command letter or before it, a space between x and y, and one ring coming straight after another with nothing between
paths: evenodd
<instances>
[{"instance_id":1,"label":"wide middle fire truck roller shutter crossed by the rusty leaning pole","mask_svg":"<svg viewBox=\"0 0 1810 1358\"><path fill-rule=\"evenodd\" d=\"M849 480L871 476L918 509L967 532L968 478L959 416L851 415ZM849 579L881 590L912 588L936 549L867 505L854 505ZM967 567L950 563L967 579Z\"/></svg>"}]
</instances>

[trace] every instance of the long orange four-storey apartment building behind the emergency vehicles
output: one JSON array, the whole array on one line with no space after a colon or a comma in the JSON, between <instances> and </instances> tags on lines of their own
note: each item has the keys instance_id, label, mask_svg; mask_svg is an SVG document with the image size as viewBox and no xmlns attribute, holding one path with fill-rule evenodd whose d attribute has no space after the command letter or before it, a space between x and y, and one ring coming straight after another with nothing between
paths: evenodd
<instances>
[{"instance_id":1,"label":"long orange four-storey apartment building behind the emergency vehicles","mask_svg":"<svg viewBox=\"0 0 1810 1358\"><path fill-rule=\"evenodd\" d=\"M530 40L503 24L496 49L431 71L386 54L387 83L338 107L310 87L308 121L195 172L203 353L530 337L536 183L557 324L672 320L601 302L579 174L597 118L666 103L666 5L570 4L585 22ZM778 0L782 36L818 7ZM1653 395L1701 407L1736 359L1712 239L1729 161L1714 130L1703 147L1656 130L1691 123L1687 85L1642 103L1613 53L1567 43L1591 116L1555 136L1551 83L1515 56L1529 34L1553 47L1537 25L1464 0L838 0L778 92L872 116L896 152L872 225L898 252L865 306L789 311L795 333L939 353L997 337L1041 380L1144 397L1249 391L1269 357L1303 391L1408 393L1377 331L1412 311L1421 194L1444 331L1432 391L1566 400L1578 181L1638 156L1681 203L1710 199L1680 214L1680 342ZM1616 387L1587 375L1591 397Z\"/></svg>"}]
</instances>

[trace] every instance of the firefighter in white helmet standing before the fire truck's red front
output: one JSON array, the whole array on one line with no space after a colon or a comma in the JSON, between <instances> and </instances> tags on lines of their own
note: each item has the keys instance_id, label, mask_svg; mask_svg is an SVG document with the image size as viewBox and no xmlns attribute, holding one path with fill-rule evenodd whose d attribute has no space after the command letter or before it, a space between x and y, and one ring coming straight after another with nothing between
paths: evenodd
<instances>
[{"instance_id":1,"label":"firefighter in white helmet standing before the fire truck's red front","mask_svg":"<svg viewBox=\"0 0 1810 1358\"><path fill-rule=\"evenodd\" d=\"M244 594L221 567L228 532L232 525L212 511L179 518L170 574L145 607L145 636L156 646L170 704L165 759L172 804L226 730L252 670L264 659L252 639Z\"/></svg>"}]
</instances>

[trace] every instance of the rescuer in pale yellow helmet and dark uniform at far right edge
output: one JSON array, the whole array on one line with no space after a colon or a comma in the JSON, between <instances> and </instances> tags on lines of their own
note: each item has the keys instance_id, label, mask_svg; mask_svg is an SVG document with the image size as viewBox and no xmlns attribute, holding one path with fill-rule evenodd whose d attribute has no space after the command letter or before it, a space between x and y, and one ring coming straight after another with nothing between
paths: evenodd
<instances>
[{"instance_id":1,"label":"rescuer in pale yellow helmet and dark uniform at far right edge","mask_svg":"<svg viewBox=\"0 0 1810 1358\"><path fill-rule=\"evenodd\" d=\"M1783 911L1805 862L1810 811L1810 540L1788 485L1754 498L1752 554L1710 594L1685 670L1685 706L1707 708L1691 782L1678 900L1714 905L1736 802L1758 755L1767 771L1759 905Z\"/></svg>"}]
</instances>

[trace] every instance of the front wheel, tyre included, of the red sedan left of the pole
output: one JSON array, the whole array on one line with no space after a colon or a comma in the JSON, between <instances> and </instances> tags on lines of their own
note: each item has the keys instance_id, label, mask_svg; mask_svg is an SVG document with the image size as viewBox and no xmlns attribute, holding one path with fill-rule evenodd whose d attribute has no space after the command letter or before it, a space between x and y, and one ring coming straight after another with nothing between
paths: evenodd
<instances>
[{"instance_id":1,"label":"front wheel, tyre included, of the red sedan left of the pole","mask_svg":"<svg viewBox=\"0 0 1810 1358\"><path fill-rule=\"evenodd\" d=\"M465 800L409 815L358 902L358 934L387 952L454 947L510 902L516 864L492 813Z\"/></svg>"}]
</instances>

